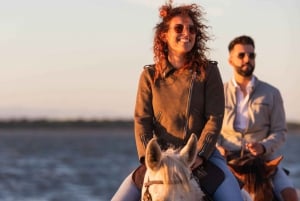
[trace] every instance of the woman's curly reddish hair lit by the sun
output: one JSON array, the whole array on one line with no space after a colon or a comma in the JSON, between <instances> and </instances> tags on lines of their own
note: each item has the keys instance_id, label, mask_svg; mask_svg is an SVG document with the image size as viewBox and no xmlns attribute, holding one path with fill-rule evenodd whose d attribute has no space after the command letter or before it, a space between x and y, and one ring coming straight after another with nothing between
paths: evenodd
<instances>
[{"instance_id":1,"label":"woman's curly reddish hair lit by the sun","mask_svg":"<svg viewBox=\"0 0 300 201\"><path fill-rule=\"evenodd\" d=\"M172 1L161 6L159 9L159 16L161 22L155 26L154 35L154 62L155 62L155 77L156 80L159 77L163 77L163 71L168 60L168 45L163 40L163 33L166 33L169 29L170 21L175 16L188 16L196 27L196 40L192 50L186 55L186 64L183 69L192 69L200 72L201 78L205 77L205 66L208 63L208 59L205 53L209 50L206 46L206 42L210 40L207 29L209 28L202 23L204 21L204 13L201 7L197 4L181 5L178 7L172 7Z\"/></svg>"}]
</instances>

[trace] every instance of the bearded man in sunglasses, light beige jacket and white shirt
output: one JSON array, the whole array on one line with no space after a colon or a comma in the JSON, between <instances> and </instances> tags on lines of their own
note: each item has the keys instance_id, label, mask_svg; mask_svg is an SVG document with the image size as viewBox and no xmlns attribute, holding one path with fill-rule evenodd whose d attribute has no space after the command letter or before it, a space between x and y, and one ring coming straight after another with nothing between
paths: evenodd
<instances>
[{"instance_id":1,"label":"bearded man in sunglasses, light beige jacket and white shirt","mask_svg":"<svg viewBox=\"0 0 300 201\"><path fill-rule=\"evenodd\" d=\"M254 49L253 39L245 35L228 46L233 79L224 84L225 113L217 148L224 156L228 151L246 151L270 160L286 139L285 111L279 90L253 75ZM274 175L273 185L282 200L298 200L282 168Z\"/></svg>"}]
</instances>

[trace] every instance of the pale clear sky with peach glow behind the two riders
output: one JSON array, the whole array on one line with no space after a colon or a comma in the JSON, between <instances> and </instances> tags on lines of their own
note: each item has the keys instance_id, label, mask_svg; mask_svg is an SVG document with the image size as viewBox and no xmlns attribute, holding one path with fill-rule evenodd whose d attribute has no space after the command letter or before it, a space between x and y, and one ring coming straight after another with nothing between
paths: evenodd
<instances>
[{"instance_id":1,"label":"pale clear sky with peach glow behind the two riders","mask_svg":"<svg viewBox=\"0 0 300 201\"><path fill-rule=\"evenodd\" d=\"M0 2L0 118L132 118L142 67L153 63L153 27L164 0ZM299 0L199 3L210 58L231 79L227 44L256 42L258 78L280 89L288 121L300 122Z\"/></svg>"}]
</instances>

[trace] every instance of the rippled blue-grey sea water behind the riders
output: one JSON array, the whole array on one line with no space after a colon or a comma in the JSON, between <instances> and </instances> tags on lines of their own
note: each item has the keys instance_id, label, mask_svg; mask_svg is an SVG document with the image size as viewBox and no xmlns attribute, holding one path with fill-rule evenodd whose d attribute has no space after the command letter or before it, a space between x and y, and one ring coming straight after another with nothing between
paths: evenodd
<instances>
[{"instance_id":1,"label":"rippled blue-grey sea water behind the riders","mask_svg":"<svg viewBox=\"0 0 300 201\"><path fill-rule=\"evenodd\" d=\"M300 188L300 131L282 166ZM1 201L109 201L138 165L133 129L1 128Z\"/></svg>"}]
</instances>

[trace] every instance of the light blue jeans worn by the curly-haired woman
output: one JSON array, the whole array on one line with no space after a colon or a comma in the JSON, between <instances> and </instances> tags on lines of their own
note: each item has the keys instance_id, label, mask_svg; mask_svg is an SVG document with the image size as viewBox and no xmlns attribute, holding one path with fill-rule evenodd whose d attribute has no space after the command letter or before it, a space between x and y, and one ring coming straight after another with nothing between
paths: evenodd
<instances>
[{"instance_id":1,"label":"light blue jeans worn by the curly-haired woman","mask_svg":"<svg viewBox=\"0 0 300 201\"><path fill-rule=\"evenodd\" d=\"M242 201L243 198L239 184L228 169L227 164L219 151L215 150L208 160L222 169L225 174L223 183L218 187L213 195L214 201ZM125 178L111 201L139 201L140 198L141 192L133 183L132 173L130 173Z\"/></svg>"}]
</instances>

